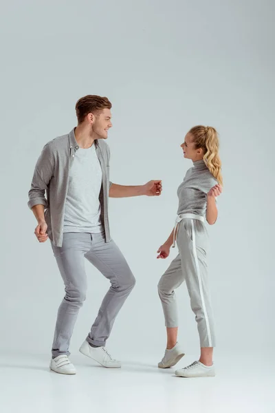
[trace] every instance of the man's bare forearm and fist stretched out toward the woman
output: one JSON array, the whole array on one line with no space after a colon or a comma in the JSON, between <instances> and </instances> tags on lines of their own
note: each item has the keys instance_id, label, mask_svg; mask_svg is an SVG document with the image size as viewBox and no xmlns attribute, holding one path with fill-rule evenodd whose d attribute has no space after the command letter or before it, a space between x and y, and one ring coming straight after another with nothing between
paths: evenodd
<instances>
[{"instance_id":1,"label":"man's bare forearm and fist stretched out toward the woman","mask_svg":"<svg viewBox=\"0 0 275 413\"><path fill-rule=\"evenodd\" d=\"M162 193L162 181L151 180L144 185L124 186L111 184L109 189L110 198L128 198L131 196L159 196Z\"/></svg>"}]
</instances>

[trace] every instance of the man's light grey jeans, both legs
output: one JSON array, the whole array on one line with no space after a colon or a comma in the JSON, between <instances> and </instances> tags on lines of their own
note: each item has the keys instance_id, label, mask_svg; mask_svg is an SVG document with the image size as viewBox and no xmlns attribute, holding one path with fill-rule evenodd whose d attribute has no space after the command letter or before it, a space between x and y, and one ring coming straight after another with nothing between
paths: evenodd
<instances>
[{"instance_id":1,"label":"man's light grey jeans, both legs","mask_svg":"<svg viewBox=\"0 0 275 413\"><path fill-rule=\"evenodd\" d=\"M69 341L86 297L85 258L111 282L87 337L87 341L94 346L104 346L115 317L135 285L129 265L113 240L105 242L104 233L65 233L63 246L52 244L52 249L65 284L65 297L56 320L52 356L69 355Z\"/></svg>"}]
</instances>

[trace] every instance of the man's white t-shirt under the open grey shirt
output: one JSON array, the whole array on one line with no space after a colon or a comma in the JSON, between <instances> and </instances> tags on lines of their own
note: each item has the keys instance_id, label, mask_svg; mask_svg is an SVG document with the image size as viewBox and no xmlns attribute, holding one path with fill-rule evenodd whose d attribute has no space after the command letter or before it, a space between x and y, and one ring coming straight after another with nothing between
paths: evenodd
<instances>
[{"instance_id":1,"label":"man's white t-shirt under the open grey shirt","mask_svg":"<svg viewBox=\"0 0 275 413\"><path fill-rule=\"evenodd\" d=\"M69 188L65 202L64 232L100 233L98 199L102 184L102 171L96 145L89 149L79 148L69 171Z\"/></svg>"}]
</instances>

